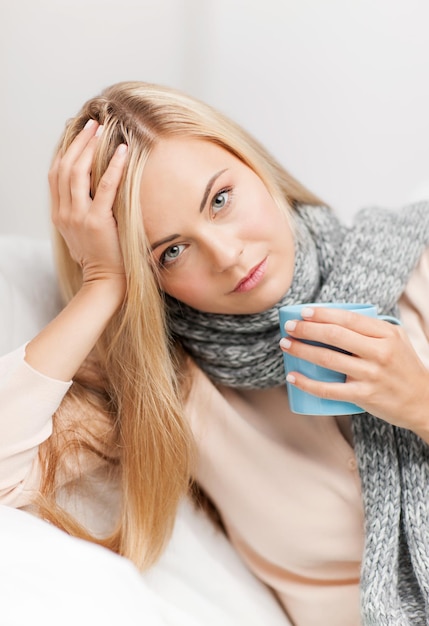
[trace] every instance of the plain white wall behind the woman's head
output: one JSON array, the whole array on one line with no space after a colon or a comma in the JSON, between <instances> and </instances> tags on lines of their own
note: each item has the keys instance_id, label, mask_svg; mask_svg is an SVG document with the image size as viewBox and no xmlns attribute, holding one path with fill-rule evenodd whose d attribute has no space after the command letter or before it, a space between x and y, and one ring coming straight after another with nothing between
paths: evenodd
<instances>
[{"instance_id":1,"label":"plain white wall behind the woman's head","mask_svg":"<svg viewBox=\"0 0 429 626\"><path fill-rule=\"evenodd\" d=\"M101 88L188 91L346 219L429 183L426 0L0 0L0 232L49 234L65 120Z\"/></svg>"}]
</instances>

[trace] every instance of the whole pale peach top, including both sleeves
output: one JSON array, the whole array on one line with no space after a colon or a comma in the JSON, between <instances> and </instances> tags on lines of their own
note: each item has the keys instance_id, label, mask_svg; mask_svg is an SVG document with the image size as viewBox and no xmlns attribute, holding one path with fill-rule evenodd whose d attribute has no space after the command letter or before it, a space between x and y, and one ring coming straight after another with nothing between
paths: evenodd
<instances>
[{"instance_id":1,"label":"whole pale peach top, including both sleeves","mask_svg":"<svg viewBox=\"0 0 429 626\"><path fill-rule=\"evenodd\" d=\"M428 294L429 250L400 302L429 367ZM37 489L37 446L69 387L31 369L23 354L0 359L0 502L15 507L26 507ZM216 389L197 368L187 410L199 445L196 477L292 622L358 626L363 511L353 449L336 419L294 415L285 388ZM70 508L97 531L109 496L101 476L93 484L91 497ZM112 517L116 502L112 494Z\"/></svg>"}]
</instances>

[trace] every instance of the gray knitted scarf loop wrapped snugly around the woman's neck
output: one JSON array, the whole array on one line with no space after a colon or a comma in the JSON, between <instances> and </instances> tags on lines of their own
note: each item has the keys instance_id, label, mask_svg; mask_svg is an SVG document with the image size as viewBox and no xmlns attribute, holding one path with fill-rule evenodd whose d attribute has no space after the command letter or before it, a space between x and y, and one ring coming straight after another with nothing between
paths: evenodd
<instances>
[{"instance_id":1,"label":"gray knitted scarf loop wrapped snugly around the woman's neck","mask_svg":"<svg viewBox=\"0 0 429 626\"><path fill-rule=\"evenodd\" d=\"M295 221L294 278L275 307L252 315L222 315L201 313L167 297L173 333L217 383L248 389L284 383L278 308L317 297L345 234L334 214L325 208L302 207ZM319 231L317 240L313 228Z\"/></svg>"}]
</instances>

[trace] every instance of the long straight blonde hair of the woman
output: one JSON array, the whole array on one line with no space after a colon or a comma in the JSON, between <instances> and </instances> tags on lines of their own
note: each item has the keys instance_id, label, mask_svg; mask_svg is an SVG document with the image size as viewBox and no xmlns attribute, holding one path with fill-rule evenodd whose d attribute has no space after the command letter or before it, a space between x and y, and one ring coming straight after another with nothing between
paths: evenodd
<instances>
[{"instance_id":1,"label":"long straight blonde hair of the woman","mask_svg":"<svg viewBox=\"0 0 429 626\"><path fill-rule=\"evenodd\" d=\"M171 135L208 140L252 168L279 206L290 210L297 203L320 204L320 200L245 130L178 91L142 82L113 85L89 100L68 123L60 150L67 149L89 119L104 125L92 167L92 192L116 147L128 145L128 164L113 207L127 296L58 410L53 437L42 446L41 509L68 532L147 567L156 561L171 533L178 503L190 484L193 459L181 400L186 355L168 339L163 297L141 219L141 178L150 151L160 138ZM55 243L67 301L80 288L81 269L58 233ZM100 427L102 423L108 427ZM121 512L109 537L91 535L55 503L65 447L97 455L120 475Z\"/></svg>"}]
</instances>

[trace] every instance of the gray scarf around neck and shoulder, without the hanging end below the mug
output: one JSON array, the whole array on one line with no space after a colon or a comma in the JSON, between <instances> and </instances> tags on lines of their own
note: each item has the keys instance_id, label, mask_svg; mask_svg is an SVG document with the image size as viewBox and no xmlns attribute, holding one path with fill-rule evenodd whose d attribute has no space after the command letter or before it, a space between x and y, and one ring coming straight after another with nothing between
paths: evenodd
<instances>
[{"instance_id":1,"label":"gray scarf around neck and shoulder, without the hanging end below the mug","mask_svg":"<svg viewBox=\"0 0 429 626\"><path fill-rule=\"evenodd\" d=\"M366 209L351 228L326 207L299 207L292 284L252 315L202 313L167 297L170 328L210 378L228 387L282 385L278 309L298 302L372 302L395 309L428 239L426 203L398 213Z\"/></svg>"}]
</instances>

